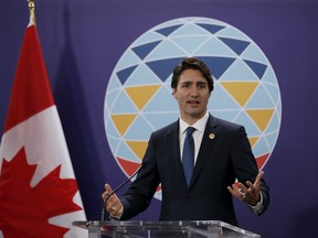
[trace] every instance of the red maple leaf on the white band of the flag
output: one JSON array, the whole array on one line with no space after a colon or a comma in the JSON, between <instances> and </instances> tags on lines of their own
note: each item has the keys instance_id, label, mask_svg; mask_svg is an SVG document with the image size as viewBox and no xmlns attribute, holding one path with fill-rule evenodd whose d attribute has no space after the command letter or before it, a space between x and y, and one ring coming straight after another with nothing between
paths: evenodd
<instances>
[{"instance_id":1,"label":"red maple leaf on the white band of the flag","mask_svg":"<svg viewBox=\"0 0 318 238\"><path fill-rule=\"evenodd\" d=\"M61 165L31 187L35 169L28 164L24 148L11 162L2 162L0 230L6 238L63 237L70 228L49 224L49 218L82 209L73 203L76 181L60 178Z\"/></svg>"}]
</instances>

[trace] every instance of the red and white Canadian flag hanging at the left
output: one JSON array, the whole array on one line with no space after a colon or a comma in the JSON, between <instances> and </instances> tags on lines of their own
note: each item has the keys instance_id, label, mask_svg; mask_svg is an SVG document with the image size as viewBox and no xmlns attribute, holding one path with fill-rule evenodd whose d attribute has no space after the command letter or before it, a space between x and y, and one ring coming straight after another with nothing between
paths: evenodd
<instances>
[{"instance_id":1,"label":"red and white Canadian flag hanging at the left","mask_svg":"<svg viewBox=\"0 0 318 238\"><path fill-rule=\"evenodd\" d=\"M85 220L62 125L30 22L0 145L0 237L86 237ZM83 234L84 232L84 234Z\"/></svg>"}]
</instances>

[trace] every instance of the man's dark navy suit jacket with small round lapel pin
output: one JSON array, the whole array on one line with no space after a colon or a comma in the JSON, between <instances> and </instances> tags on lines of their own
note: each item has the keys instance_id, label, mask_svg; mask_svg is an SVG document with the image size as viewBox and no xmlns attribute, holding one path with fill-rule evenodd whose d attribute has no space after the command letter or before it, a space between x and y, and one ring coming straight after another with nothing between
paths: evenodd
<instances>
[{"instance_id":1,"label":"man's dark navy suit jacket with small round lapel pin","mask_svg":"<svg viewBox=\"0 0 318 238\"><path fill-rule=\"evenodd\" d=\"M210 115L188 188L180 159L179 121L176 121L151 134L142 167L120 198L121 219L145 210L161 183L160 220L222 220L237 226L232 195L226 187L236 177L243 183L254 182L257 173L244 127ZM264 180L261 187L264 213L269 188Z\"/></svg>"}]
</instances>

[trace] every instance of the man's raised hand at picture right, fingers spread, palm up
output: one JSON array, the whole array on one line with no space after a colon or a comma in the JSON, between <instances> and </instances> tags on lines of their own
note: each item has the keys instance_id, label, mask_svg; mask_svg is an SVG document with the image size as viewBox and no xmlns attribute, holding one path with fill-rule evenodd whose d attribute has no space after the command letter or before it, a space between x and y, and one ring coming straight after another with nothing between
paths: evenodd
<instances>
[{"instance_id":1,"label":"man's raised hand at picture right, fingers spread, palm up","mask_svg":"<svg viewBox=\"0 0 318 238\"><path fill-rule=\"evenodd\" d=\"M261 180L264 176L264 171L261 171L254 183L250 181L246 182L246 186L242 183L233 184L232 187L227 186L229 192L237 199L255 206L261 201Z\"/></svg>"}]
</instances>

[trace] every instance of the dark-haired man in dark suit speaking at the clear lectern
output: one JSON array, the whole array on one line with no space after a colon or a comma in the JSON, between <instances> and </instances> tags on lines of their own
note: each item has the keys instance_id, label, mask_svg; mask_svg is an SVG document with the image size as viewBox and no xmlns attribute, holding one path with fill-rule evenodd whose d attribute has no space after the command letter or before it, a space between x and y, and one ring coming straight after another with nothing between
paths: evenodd
<instances>
[{"instance_id":1,"label":"dark-haired man in dark suit speaking at the clear lectern","mask_svg":"<svg viewBox=\"0 0 318 238\"><path fill-rule=\"evenodd\" d=\"M120 199L116 194L107 199L107 212L124 220L136 216L149 206L161 183L160 220L222 220L237 226L232 196L254 213L264 213L269 187L264 172L258 173L244 127L208 112L213 90L210 69L198 58L184 58L173 71L171 87L180 119L151 134L138 176ZM186 136L189 127L192 137ZM189 138L194 151L192 164L184 165ZM103 199L112 192L106 184Z\"/></svg>"}]
</instances>

